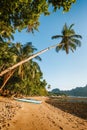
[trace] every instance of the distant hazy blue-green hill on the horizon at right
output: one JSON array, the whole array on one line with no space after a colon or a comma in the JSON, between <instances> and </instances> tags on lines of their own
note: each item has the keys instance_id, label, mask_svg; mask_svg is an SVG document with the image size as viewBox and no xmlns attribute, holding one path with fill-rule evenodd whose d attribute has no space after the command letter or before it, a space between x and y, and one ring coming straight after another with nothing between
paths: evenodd
<instances>
[{"instance_id":1,"label":"distant hazy blue-green hill on the horizon at right","mask_svg":"<svg viewBox=\"0 0 87 130\"><path fill-rule=\"evenodd\" d=\"M75 89L66 90L66 91L55 88L51 91L51 94L55 94L55 95L65 94L69 96L87 97L87 85L85 87L76 87Z\"/></svg>"}]
</instances>

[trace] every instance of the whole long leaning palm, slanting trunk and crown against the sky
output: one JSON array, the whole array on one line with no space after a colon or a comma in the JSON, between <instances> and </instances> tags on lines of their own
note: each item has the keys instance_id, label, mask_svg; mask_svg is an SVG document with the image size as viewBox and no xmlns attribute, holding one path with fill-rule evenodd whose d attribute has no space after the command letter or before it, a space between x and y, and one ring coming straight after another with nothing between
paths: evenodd
<instances>
[{"instance_id":1,"label":"whole long leaning palm, slanting trunk and crown against the sky","mask_svg":"<svg viewBox=\"0 0 87 130\"><path fill-rule=\"evenodd\" d=\"M50 46L48 48L45 48L39 52L37 52L36 54L33 54L29 57L27 57L26 59L23 59L22 61L18 62L17 64L13 65L12 67L9 67L8 69L5 69L4 71L2 71L0 73L0 76L3 76L4 74L6 74L7 72L17 68L18 66L28 62L29 60L37 57L38 55L52 49L56 47L56 51L58 52L59 50L65 50L65 52L68 54L69 53L69 49L73 52L74 50L76 50L76 47L80 47L81 42L80 40L78 40L79 38L82 38L81 35L78 35L75 33L75 31L72 29L74 24L70 25L70 27L68 27L66 24L63 27L62 30L62 35L56 35L53 36L52 39L55 38L62 38L61 42L59 44Z\"/></svg>"}]
</instances>

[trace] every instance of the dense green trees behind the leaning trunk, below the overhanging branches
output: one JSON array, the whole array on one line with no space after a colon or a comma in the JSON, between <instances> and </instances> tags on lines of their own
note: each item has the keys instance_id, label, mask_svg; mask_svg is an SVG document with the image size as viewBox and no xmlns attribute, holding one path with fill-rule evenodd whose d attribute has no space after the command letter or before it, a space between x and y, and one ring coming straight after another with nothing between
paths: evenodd
<instances>
[{"instance_id":1,"label":"dense green trees behind the leaning trunk, below the overhanging branches","mask_svg":"<svg viewBox=\"0 0 87 130\"><path fill-rule=\"evenodd\" d=\"M31 56L33 52L37 50L30 42L25 45L22 45L21 43L1 43L0 49L1 71L6 69L9 64L16 64L19 61ZM37 59L41 60L40 57ZM8 74L6 75L0 78L1 87L8 78ZM38 63L31 60L15 69L14 74L5 84L3 90L5 92L4 94L9 92L8 94L17 93L25 95L46 95L46 84L46 81L43 80L43 74Z\"/></svg>"}]
</instances>

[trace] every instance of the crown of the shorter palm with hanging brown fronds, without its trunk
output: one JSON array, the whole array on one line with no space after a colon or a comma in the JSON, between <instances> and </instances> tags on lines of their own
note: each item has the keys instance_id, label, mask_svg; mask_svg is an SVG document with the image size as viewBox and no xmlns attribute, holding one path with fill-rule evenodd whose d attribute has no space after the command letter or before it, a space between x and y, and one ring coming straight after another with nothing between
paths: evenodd
<instances>
[{"instance_id":1,"label":"crown of the shorter palm with hanging brown fronds, without its trunk","mask_svg":"<svg viewBox=\"0 0 87 130\"><path fill-rule=\"evenodd\" d=\"M33 54L33 52L37 50L32 45L31 42L28 42L25 45L22 45L21 43L13 44L12 49L13 49L13 52L15 54L14 57L15 57L16 63L26 59L27 57L30 57ZM41 58L39 56L36 57L36 59L41 60ZM28 66L29 66L29 63L28 63ZM24 64L21 64L18 68L18 74L20 75L20 77L22 79L24 76L24 68L25 68Z\"/></svg>"}]
</instances>

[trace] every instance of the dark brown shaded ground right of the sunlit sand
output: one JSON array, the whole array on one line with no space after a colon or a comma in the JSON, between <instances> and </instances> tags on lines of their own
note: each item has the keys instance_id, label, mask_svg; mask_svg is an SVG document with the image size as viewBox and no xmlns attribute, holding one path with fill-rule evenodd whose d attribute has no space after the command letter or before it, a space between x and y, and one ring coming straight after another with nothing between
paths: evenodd
<instances>
[{"instance_id":1,"label":"dark brown shaded ground right of the sunlit sand","mask_svg":"<svg viewBox=\"0 0 87 130\"><path fill-rule=\"evenodd\" d=\"M61 109L64 112L87 120L87 103L85 102L69 102L66 99L58 99L50 97L46 103Z\"/></svg>"}]
</instances>

